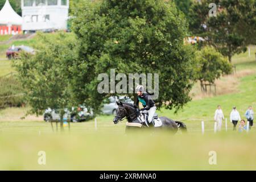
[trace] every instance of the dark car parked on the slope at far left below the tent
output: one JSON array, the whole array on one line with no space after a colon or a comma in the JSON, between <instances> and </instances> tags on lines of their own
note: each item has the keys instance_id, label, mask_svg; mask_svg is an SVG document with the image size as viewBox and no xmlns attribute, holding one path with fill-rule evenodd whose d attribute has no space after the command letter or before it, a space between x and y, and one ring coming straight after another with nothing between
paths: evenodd
<instances>
[{"instance_id":1,"label":"dark car parked on the slope at far left below the tent","mask_svg":"<svg viewBox=\"0 0 256 182\"><path fill-rule=\"evenodd\" d=\"M16 59L16 58L18 58L19 53L21 51L24 51L24 52L29 53L29 54L34 54L35 53L35 50L31 47L28 47L28 46L11 46L6 51L6 57L8 59L12 59L12 58Z\"/></svg>"}]
</instances>

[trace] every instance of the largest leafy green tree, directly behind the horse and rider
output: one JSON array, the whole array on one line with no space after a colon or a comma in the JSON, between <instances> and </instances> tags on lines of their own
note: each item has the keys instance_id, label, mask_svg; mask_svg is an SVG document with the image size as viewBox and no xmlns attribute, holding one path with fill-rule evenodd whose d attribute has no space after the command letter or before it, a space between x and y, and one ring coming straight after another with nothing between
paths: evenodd
<instances>
[{"instance_id":1,"label":"largest leafy green tree, directly behind the horse and rider","mask_svg":"<svg viewBox=\"0 0 256 182\"><path fill-rule=\"evenodd\" d=\"M72 65L76 100L99 111L113 95L97 92L100 73L159 73L157 106L179 109L190 98L193 49L184 46L187 23L173 2L81 2L74 14L79 60ZM114 93L116 94L116 93ZM133 96L133 94L129 94Z\"/></svg>"}]
</instances>

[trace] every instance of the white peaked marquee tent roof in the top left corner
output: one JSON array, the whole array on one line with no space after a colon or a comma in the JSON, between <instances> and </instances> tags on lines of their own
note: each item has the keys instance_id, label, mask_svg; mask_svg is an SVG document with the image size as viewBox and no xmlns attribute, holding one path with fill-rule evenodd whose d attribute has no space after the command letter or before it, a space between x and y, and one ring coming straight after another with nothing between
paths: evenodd
<instances>
[{"instance_id":1,"label":"white peaked marquee tent roof in the top left corner","mask_svg":"<svg viewBox=\"0 0 256 182\"><path fill-rule=\"evenodd\" d=\"M8 0L6 0L5 5L0 11L0 24L6 24L9 26L11 24L22 24L22 17L13 10Z\"/></svg>"}]
</instances>

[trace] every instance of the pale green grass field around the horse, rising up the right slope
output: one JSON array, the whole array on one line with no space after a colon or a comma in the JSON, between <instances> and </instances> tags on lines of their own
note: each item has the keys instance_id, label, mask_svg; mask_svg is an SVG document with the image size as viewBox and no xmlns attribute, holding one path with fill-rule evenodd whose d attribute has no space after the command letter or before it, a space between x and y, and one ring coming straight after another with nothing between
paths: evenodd
<instances>
[{"instance_id":1,"label":"pale green grass field around the horse, rising up the right slope","mask_svg":"<svg viewBox=\"0 0 256 182\"><path fill-rule=\"evenodd\" d=\"M65 126L64 133L60 133L53 132L42 116L20 119L27 107L0 110L0 169L255 170L255 127L249 133L238 133L232 131L228 119L228 132L224 128L217 134L213 132L218 104L226 118L234 105L242 118L248 105L255 111L255 50L256 47L251 47L249 58L246 53L233 57L240 75L231 77L236 78L236 92L192 100L177 114L166 109L158 111L159 116L183 121L188 127L187 134L125 134L125 121L114 125L113 115L97 116L97 130L92 120L71 123L70 131ZM10 61L0 61L0 69L1 74L13 71ZM230 86L226 77L221 80ZM204 135L201 121L205 122ZM38 164L39 151L46 152L46 165ZM208 162L210 151L216 151L216 165Z\"/></svg>"}]
</instances>

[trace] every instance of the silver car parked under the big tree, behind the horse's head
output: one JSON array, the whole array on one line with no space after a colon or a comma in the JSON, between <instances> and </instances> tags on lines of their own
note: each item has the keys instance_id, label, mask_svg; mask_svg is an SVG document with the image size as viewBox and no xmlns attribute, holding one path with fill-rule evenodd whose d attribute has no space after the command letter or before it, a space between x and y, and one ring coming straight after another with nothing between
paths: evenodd
<instances>
[{"instance_id":1,"label":"silver car parked under the big tree, behind the horse's head","mask_svg":"<svg viewBox=\"0 0 256 182\"><path fill-rule=\"evenodd\" d=\"M127 96L120 96L120 97L109 97L108 100L105 100L105 104L102 107L101 111L104 114L116 114L118 105L115 103L116 101L123 101L123 102L129 102L130 104L133 104L133 100L131 100Z\"/></svg>"}]
</instances>

